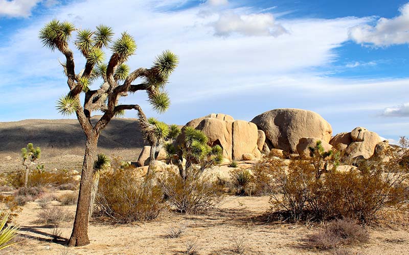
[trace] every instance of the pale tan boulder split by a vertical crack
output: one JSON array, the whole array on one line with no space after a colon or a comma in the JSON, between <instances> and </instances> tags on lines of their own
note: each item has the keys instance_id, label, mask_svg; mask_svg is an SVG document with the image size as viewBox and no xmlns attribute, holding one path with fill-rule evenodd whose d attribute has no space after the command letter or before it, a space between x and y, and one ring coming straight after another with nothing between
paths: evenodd
<instances>
[{"instance_id":1,"label":"pale tan boulder split by a vertical crack","mask_svg":"<svg viewBox=\"0 0 409 255\"><path fill-rule=\"evenodd\" d=\"M244 160L244 154L251 154L253 158L261 157L258 142L262 138L259 138L257 126L252 122L234 120L230 115L219 113L191 120L186 126L205 133L209 138L209 145L220 145L226 159ZM181 144L185 139L183 130L176 139L176 144ZM251 157L247 155L245 158Z\"/></svg>"}]
</instances>

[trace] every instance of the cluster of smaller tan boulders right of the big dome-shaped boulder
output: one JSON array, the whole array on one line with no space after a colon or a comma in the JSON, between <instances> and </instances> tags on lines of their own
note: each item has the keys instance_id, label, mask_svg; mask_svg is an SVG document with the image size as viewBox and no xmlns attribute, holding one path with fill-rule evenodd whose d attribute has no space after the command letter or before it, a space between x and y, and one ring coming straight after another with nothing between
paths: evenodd
<instances>
[{"instance_id":1,"label":"cluster of smaller tan boulders right of the big dome-shaped boulder","mask_svg":"<svg viewBox=\"0 0 409 255\"><path fill-rule=\"evenodd\" d=\"M378 134L358 126L349 133L337 134L331 139L330 144L345 151L347 159L369 159L374 155L375 146L380 142Z\"/></svg>"}]
</instances>

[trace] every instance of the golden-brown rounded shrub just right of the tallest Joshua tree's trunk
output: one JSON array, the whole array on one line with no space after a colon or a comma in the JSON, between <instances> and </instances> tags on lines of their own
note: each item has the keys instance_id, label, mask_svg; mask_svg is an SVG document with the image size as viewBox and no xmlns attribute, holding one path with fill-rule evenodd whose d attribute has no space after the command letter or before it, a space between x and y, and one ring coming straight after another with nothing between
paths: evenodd
<instances>
[{"instance_id":1,"label":"golden-brown rounded shrub just right of the tallest Joshua tree's trunk","mask_svg":"<svg viewBox=\"0 0 409 255\"><path fill-rule=\"evenodd\" d=\"M138 180L124 169L101 176L94 212L119 223L155 219L166 205L160 186Z\"/></svg>"}]
</instances>

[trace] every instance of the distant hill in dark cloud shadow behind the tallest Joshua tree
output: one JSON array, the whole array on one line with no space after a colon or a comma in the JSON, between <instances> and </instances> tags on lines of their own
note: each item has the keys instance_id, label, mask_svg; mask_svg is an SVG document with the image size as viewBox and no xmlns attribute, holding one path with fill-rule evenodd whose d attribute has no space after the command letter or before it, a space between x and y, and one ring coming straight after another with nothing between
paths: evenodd
<instances>
[{"instance_id":1,"label":"distant hill in dark cloud shadow behind the tallest Joshua tree","mask_svg":"<svg viewBox=\"0 0 409 255\"><path fill-rule=\"evenodd\" d=\"M92 121L97 121L97 118ZM76 119L0 122L1 155L17 156L20 149L29 142L41 147L43 158L59 155L81 156L85 135ZM114 118L102 131L98 149L104 153L135 150L134 153L137 154L143 145L144 140L137 119Z\"/></svg>"}]
</instances>

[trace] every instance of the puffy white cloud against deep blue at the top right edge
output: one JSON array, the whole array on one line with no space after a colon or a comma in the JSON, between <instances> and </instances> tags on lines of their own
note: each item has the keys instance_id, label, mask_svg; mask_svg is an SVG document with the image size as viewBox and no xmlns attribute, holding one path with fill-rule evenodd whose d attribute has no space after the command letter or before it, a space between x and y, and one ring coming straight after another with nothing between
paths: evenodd
<instances>
[{"instance_id":1,"label":"puffy white cloud against deep blue at the top right edge","mask_svg":"<svg viewBox=\"0 0 409 255\"><path fill-rule=\"evenodd\" d=\"M391 19L379 18L374 26L359 24L349 31L356 43L389 46L409 43L409 3L399 8L400 15Z\"/></svg>"}]
</instances>

